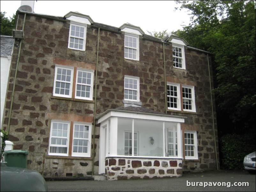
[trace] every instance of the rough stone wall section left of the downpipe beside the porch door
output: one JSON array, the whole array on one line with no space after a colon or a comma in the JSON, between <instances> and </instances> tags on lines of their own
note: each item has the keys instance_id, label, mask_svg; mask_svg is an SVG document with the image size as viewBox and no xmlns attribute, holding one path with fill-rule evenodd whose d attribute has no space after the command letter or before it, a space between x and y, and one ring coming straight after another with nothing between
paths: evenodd
<instances>
[{"instance_id":1,"label":"rough stone wall section left of the downpipe beside the porch door","mask_svg":"<svg viewBox=\"0 0 256 192\"><path fill-rule=\"evenodd\" d=\"M23 19L24 14L20 14L18 30L22 29ZM33 15L26 15L25 20L25 39L21 45L9 139L14 143L14 149L46 154L45 176L66 176L66 173L76 176L92 172L92 150L91 158L71 157L71 150L69 157L66 158L48 155L52 119L93 123L94 101L53 96L55 64L93 70L96 68L93 62L96 60L96 48L94 54L91 53L89 46L86 54L67 48L69 26L69 21ZM19 48L14 47L4 112L4 129L8 123L18 53ZM87 63L88 60L91 63ZM97 174L98 125L95 135L94 173Z\"/></svg>"}]
</instances>

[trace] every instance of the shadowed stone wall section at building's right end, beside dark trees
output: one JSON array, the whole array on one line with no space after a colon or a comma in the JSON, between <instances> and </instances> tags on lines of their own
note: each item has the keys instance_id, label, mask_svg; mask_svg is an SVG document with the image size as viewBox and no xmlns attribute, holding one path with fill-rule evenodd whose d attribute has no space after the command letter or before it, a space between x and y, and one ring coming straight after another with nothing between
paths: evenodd
<instances>
[{"instance_id":1,"label":"shadowed stone wall section at building's right end, beside dark trees","mask_svg":"<svg viewBox=\"0 0 256 192\"><path fill-rule=\"evenodd\" d=\"M216 169L215 145L213 130L215 129L216 150L218 149L217 120L215 110L215 98L213 97L214 126L209 81L208 61L211 69L211 57L207 54L185 49L186 70L173 68L173 76L167 76L167 81L192 85L195 87L196 112L183 112L186 116L185 123L181 129L197 131L198 139L198 160L184 159L183 170L185 172L199 172ZM213 82L212 70L210 70L211 81ZM211 84L214 88L213 83ZM181 115L173 110L168 110L169 114ZM184 139L183 139L184 143ZM184 152L183 152L184 154ZM218 157L219 159L219 157ZM219 163L219 162L218 162Z\"/></svg>"}]
</instances>

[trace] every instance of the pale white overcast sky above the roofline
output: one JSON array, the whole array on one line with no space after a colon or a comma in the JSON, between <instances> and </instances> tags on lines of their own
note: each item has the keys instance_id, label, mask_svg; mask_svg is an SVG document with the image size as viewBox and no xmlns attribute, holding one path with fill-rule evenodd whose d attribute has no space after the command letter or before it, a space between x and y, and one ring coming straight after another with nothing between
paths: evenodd
<instances>
[{"instance_id":1,"label":"pale white overcast sky above the roofline","mask_svg":"<svg viewBox=\"0 0 256 192\"><path fill-rule=\"evenodd\" d=\"M21 1L2 1L5 17L15 14ZM190 16L185 11L174 11L174 1L35 1L34 13L63 17L70 11L89 15L94 22L120 27L124 23L147 31L177 31L188 25Z\"/></svg>"}]
</instances>

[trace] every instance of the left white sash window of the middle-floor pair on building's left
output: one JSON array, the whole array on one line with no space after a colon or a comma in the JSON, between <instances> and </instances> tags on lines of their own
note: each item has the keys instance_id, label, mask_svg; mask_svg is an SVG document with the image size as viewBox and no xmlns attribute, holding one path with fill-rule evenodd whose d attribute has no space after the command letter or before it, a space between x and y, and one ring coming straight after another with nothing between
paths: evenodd
<instances>
[{"instance_id":1,"label":"left white sash window of the middle-floor pair on building's left","mask_svg":"<svg viewBox=\"0 0 256 192\"><path fill-rule=\"evenodd\" d=\"M70 70L71 71L71 75L70 75L70 81L66 81L66 80L57 80L57 77L60 77L60 74L58 73L58 70ZM70 66L63 66L63 65L55 65L55 76L54 76L54 86L53 86L53 95L54 96L58 96L58 97L67 97L67 98L71 98L72 97L72 88L73 88L73 75L74 75L74 67L70 67ZM56 86L57 83L62 83L62 84L70 84L69 87L69 94L65 95L65 94L60 94L60 93L56 93L56 89L58 89L58 86ZM61 86L60 86L61 87Z\"/></svg>"}]
</instances>

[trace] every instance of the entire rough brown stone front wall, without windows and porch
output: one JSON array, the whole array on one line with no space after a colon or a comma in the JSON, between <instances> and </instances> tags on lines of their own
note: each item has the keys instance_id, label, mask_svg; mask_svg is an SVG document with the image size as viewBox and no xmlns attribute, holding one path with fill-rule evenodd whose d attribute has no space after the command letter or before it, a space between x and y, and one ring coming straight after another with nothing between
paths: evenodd
<instances>
[{"instance_id":1,"label":"entire rough brown stone front wall, without windows and porch","mask_svg":"<svg viewBox=\"0 0 256 192\"><path fill-rule=\"evenodd\" d=\"M18 30L22 29L23 19L24 14L19 14ZM65 99L52 94L55 64L93 69L95 80L98 29L87 26L86 51L80 51L68 48L69 26L68 20L26 16L25 39L21 45L9 136L15 144L14 149L45 152L47 155L51 119L93 123L95 100ZM196 113L168 110L168 114L188 117L182 124L182 130L197 131L199 160L185 160L184 170L215 169L207 55L186 48L186 70L181 70L173 67L171 44L165 44L164 48L167 81L195 86ZM18 52L19 48L14 47L4 111L4 129L8 122ZM124 107L124 75L139 77L142 107L165 112L163 45L140 36L139 52L139 61L124 59L124 33L100 30L97 114L109 108ZM97 174L98 125L95 138L94 173ZM69 173L70 170L63 168L71 160L47 155L46 175L57 173L58 176L65 176L65 172ZM59 163L58 166L53 166L53 162ZM72 160L74 164L80 162L88 165L93 163L92 158ZM73 167L73 175L89 172L88 166L70 167Z\"/></svg>"}]
</instances>

